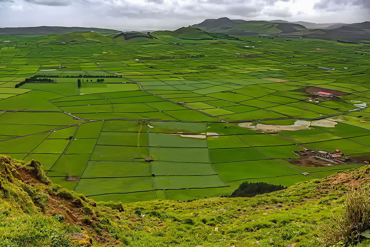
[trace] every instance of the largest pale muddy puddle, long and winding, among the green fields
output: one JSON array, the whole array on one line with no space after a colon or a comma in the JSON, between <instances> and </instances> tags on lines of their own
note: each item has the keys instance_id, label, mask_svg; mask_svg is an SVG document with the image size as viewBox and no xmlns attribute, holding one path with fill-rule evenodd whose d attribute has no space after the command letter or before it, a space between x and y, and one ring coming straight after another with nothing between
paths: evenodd
<instances>
[{"instance_id":1,"label":"largest pale muddy puddle, long and winding, among the green fields","mask_svg":"<svg viewBox=\"0 0 370 247\"><path fill-rule=\"evenodd\" d=\"M295 121L292 125L267 125L267 124L256 124L253 125L250 122L240 123L238 124L240 127L248 128L248 129L256 129L259 131L297 131L301 129L310 129L310 126L321 126L321 127L328 127L333 128L337 122L330 121L327 119L323 120L316 120L316 121L304 121L298 120Z\"/></svg>"}]
</instances>

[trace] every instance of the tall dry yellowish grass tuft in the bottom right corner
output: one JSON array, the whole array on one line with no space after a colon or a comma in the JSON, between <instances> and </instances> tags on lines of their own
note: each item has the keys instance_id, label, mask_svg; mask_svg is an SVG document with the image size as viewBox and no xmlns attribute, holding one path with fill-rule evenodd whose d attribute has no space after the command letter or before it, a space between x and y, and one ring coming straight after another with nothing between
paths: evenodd
<instances>
[{"instance_id":1,"label":"tall dry yellowish grass tuft in the bottom right corner","mask_svg":"<svg viewBox=\"0 0 370 247\"><path fill-rule=\"evenodd\" d=\"M365 239L361 233L370 230L370 189L350 189L344 199L343 211L332 216L320 234L324 247L347 247Z\"/></svg>"}]
</instances>

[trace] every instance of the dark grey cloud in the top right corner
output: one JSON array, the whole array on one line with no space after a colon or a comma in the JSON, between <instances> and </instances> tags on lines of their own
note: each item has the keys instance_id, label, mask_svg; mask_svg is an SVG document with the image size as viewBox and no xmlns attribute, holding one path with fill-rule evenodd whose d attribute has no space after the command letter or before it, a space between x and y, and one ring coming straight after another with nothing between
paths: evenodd
<instances>
[{"instance_id":1,"label":"dark grey cloud in the top right corner","mask_svg":"<svg viewBox=\"0 0 370 247\"><path fill-rule=\"evenodd\" d=\"M320 0L315 3L314 9L340 10L343 7L358 6L370 9L370 0Z\"/></svg>"}]
</instances>

